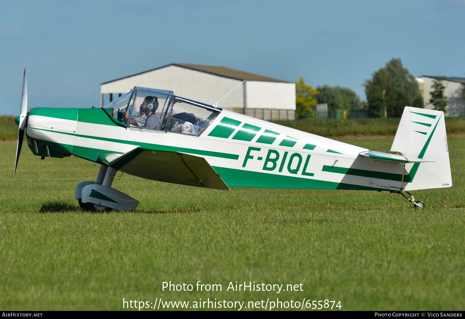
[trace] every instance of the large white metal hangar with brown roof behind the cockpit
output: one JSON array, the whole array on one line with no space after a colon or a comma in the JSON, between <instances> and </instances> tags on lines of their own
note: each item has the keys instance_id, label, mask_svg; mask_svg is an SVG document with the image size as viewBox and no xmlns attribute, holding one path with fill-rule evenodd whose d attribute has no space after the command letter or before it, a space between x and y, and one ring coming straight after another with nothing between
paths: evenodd
<instances>
[{"instance_id":1,"label":"large white metal hangar with brown roof behind the cockpit","mask_svg":"<svg viewBox=\"0 0 465 319\"><path fill-rule=\"evenodd\" d=\"M100 106L134 86L172 90L175 95L212 105L233 90L218 102L219 108L263 120L295 119L295 83L232 68L194 64L173 63L102 83Z\"/></svg>"}]
</instances>

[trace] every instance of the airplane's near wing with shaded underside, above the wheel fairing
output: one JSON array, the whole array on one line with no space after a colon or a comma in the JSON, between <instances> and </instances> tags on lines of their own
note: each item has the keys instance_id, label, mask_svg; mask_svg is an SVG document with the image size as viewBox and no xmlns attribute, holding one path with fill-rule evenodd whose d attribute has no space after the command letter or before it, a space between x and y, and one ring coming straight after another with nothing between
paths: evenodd
<instances>
[{"instance_id":1,"label":"airplane's near wing with shaded underside, above the wheel fairing","mask_svg":"<svg viewBox=\"0 0 465 319\"><path fill-rule=\"evenodd\" d=\"M106 153L100 160L124 173L160 182L229 190L203 157L138 147L125 154Z\"/></svg>"}]
</instances>

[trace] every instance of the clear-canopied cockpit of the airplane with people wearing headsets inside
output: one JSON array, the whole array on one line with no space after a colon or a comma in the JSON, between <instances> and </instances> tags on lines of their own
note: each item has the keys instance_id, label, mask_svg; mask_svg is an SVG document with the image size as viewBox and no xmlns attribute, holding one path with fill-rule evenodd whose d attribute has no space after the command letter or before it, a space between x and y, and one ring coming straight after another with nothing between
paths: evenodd
<instances>
[{"instance_id":1,"label":"clear-canopied cockpit of the airplane with people wearing headsets inside","mask_svg":"<svg viewBox=\"0 0 465 319\"><path fill-rule=\"evenodd\" d=\"M173 91L134 87L110 102L114 122L127 129L199 136L221 109L175 96Z\"/></svg>"}]
</instances>

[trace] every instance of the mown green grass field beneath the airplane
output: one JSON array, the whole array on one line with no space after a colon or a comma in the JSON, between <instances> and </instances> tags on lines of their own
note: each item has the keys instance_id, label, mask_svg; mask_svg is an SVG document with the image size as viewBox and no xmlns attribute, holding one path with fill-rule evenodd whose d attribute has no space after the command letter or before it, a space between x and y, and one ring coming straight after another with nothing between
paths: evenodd
<instances>
[{"instance_id":1,"label":"mown green grass field beneath the airplane","mask_svg":"<svg viewBox=\"0 0 465 319\"><path fill-rule=\"evenodd\" d=\"M392 138L341 141L388 150ZM140 200L132 213L79 209L74 186L94 180L97 164L41 161L25 147L13 179L16 145L1 144L0 309L305 298L342 310L464 310L465 138L448 142L453 186L414 192L424 210L386 192L217 191L123 174L113 187ZM198 280L222 291L197 292ZM194 290L162 291L163 281ZM303 291L226 291L231 281Z\"/></svg>"}]
</instances>

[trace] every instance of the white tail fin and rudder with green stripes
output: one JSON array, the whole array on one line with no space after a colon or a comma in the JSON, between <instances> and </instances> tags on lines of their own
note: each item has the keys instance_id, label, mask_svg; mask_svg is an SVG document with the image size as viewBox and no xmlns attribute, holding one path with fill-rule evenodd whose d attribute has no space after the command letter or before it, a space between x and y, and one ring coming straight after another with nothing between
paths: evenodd
<instances>
[{"instance_id":1,"label":"white tail fin and rudder with green stripes","mask_svg":"<svg viewBox=\"0 0 465 319\"><path fill-rule=\"evenodd\" d=\"M452 186L444 112L405 107L391 151L432 161L405 164L405 190Z\"/></svg>"}]
</instances>

